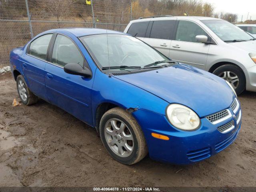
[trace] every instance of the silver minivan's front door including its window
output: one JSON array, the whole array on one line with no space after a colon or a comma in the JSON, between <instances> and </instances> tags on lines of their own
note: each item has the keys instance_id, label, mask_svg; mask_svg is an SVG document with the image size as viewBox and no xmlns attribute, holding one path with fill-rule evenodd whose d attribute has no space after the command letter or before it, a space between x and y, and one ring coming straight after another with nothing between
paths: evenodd
<instances>
[{"instance_id":1,"label":"silver minivan's front door including its window","mask_svg":"<svg viewBox=\"0 0 256 192\"><path fill-rule=\"evenodd\" d=\"M197 35L209 35L195 22L180 20L170 46L170 58L178 62L205 69L209 46L196 41Z\"/></svg>"}]
</instances>

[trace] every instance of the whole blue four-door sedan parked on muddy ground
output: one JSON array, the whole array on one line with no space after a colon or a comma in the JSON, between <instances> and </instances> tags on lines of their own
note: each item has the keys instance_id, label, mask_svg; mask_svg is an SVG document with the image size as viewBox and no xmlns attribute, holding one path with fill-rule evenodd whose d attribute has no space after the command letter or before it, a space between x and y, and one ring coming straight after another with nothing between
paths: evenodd
<instances>
[{"instance_id":1,"label":"whole blue four-door sedan parked on muddy ground","mask_svg":"<svg viewBox=\"0 0 256 192\"><path fill-rule=\"evenodd\" d=\"M94 127L123 164L148 153L198 162L232 144L241 127L228 82L121 32L48 30L12 50L10 65L23 104L41 98Z\"/></svg>"}]
</instances>

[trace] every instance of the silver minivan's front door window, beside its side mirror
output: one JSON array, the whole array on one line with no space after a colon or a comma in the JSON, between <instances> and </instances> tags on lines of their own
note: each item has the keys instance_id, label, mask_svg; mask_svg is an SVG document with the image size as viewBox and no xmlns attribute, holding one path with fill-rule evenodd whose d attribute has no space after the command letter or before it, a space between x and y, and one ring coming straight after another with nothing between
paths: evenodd
<instances>
[{"instance_id":1,"label":"silver minivan's front door window, beside its side mirror","mask_svg":"<svg viewBox=\"0 0 256 192\"><path fill-rule=\"evenodd\" d=\"M208 34L198 24L190 21L180 21L178 24L175 40L186 41L186 42L197 42L196 41L197 35L208 36Z\"/></svg>"}]
</instances>

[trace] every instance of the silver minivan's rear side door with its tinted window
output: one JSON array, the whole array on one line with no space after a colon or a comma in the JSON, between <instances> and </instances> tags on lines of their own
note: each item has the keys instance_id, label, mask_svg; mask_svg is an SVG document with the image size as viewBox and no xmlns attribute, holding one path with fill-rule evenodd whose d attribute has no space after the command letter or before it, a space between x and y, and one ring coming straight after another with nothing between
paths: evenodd
<instances>
[{"instance_id":1,"label":"silver minivan's rear side door with its tinted window","mask_svg":"<svg viewBox=\"0 0 256 192\"><path fill-rule=\"evenodd\" d=\"M169 57L176 19L150 21L144 42Z\"/></svg>"}]
</instances>

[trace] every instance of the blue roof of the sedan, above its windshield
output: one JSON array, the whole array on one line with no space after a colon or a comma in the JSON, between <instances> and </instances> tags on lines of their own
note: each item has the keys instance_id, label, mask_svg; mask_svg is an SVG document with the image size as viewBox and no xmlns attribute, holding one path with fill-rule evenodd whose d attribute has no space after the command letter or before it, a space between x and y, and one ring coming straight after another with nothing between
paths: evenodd
<instances>
[{"instance_id":1,"label":"blue roof of the sedan, above its windshield","mask_svg":"<svg viewBox=\"0 0 256 192\"><path fill-rule=\"evenodd\" d=\"M68 31L74 34L77 37L86 36L86 35L95 35L95 34L125 34L118 31L98 29L98 28L61 28L57 29L57 32ZM125 34L127 35L127 34Z\"/></svg>"}]
</instances>

